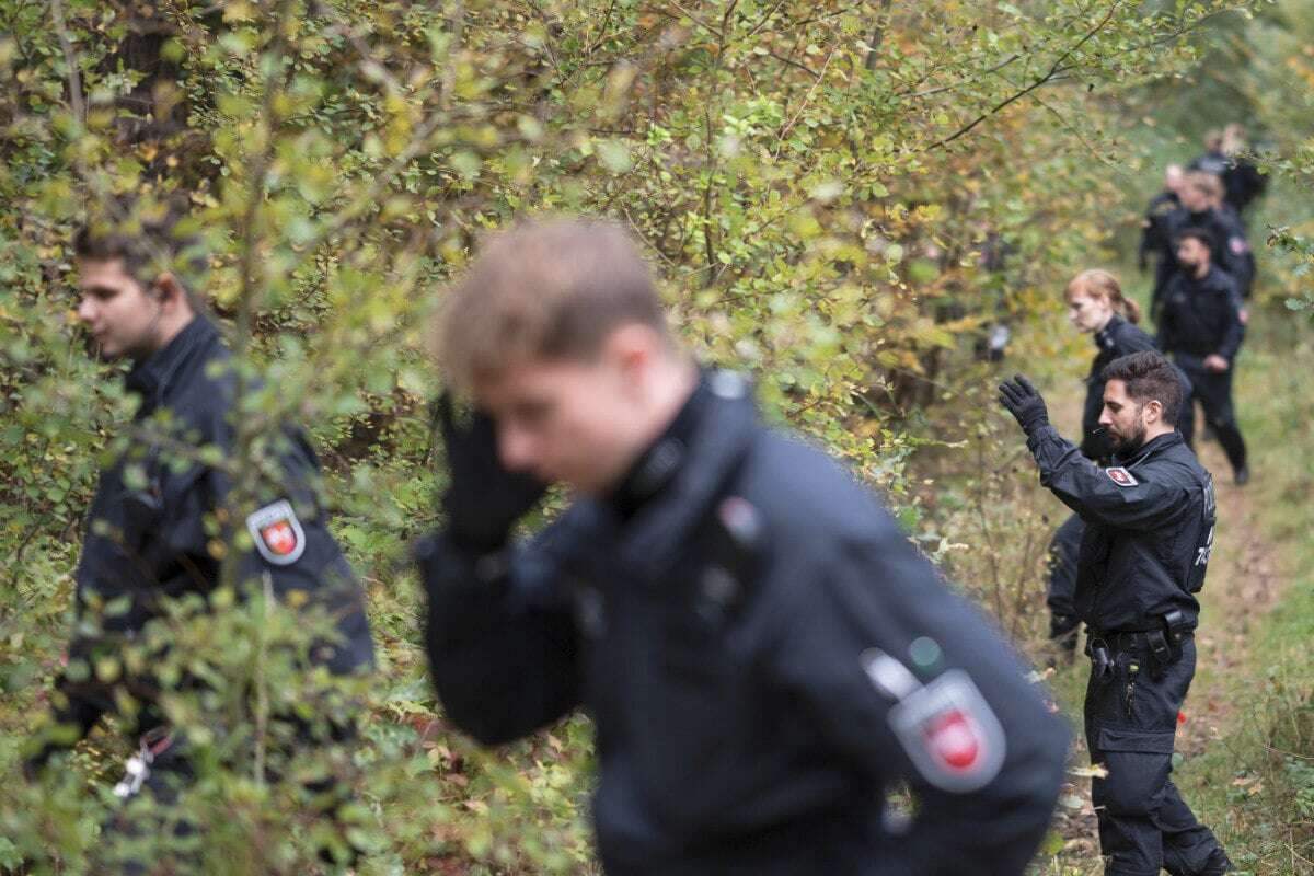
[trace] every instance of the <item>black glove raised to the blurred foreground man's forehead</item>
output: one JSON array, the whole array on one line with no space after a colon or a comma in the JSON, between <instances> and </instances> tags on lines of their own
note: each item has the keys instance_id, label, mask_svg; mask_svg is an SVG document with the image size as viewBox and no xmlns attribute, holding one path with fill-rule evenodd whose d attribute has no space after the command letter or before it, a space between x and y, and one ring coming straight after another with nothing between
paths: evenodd
<instances>
[{"instance_id":1,"label":"black glove raised to the blurred foreground man's forehead","mask_svg":"<svg viewBox=\"0 0 1314 876\"><path fill-rule=\"evenodd\" d=\"M493 418L484 411L457 423L452 395L444 393L435 412L451 477L443 494L448 536L459 549L482 557L506 544L511 527L543 498L547 485L506 470L497 454Z\"/></svg>"}]
</instances>

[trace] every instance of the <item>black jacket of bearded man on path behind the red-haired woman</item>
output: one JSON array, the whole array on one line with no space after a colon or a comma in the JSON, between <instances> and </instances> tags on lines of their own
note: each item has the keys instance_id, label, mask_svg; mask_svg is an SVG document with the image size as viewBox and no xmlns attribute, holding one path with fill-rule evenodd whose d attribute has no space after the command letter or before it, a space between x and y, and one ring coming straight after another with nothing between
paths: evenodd
<instances>
[{"instance_id":1,"label":"black jacket of bearded man on path behind the red-haired woman","mask_svg":"<svg viewBox=\"0 0 1314 876\"><path fill-rule=\"evenodd\" d=\"M1188 368L1213 353L1231 362L1246 338L1240 306L1236 284L1218 268L1210 265L1200 280L1179 271L1164 289L1159 348Z\"/></svg>"}]
</instances>

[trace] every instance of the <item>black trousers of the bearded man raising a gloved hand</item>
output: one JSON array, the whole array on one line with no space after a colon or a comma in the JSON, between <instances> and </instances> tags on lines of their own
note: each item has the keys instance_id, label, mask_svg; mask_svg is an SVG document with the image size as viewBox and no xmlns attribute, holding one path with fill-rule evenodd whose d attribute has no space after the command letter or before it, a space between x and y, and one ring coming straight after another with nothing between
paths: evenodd
<instances>
[{"instance_id":1,"label":"black trousers of the bearded man raising a gloved hand","mask_svg":"<svg viewBox=\"0 0 1314 876\"><path fill-rule=\"evenodd\" d=\"M1181 658L1158 678L1147 649L1108 644L1113 674L1101 679L1092 667L1085 692L1091 763L1109 772L1092 781L1100 848L1109 859L1105 876L1159 876L1160 868L1173 876L1221 872L1227 860L1222 846L1168 777L1177 712L1196 674L1196 644L1188 637Z\"/></svg>"}]
</instances>

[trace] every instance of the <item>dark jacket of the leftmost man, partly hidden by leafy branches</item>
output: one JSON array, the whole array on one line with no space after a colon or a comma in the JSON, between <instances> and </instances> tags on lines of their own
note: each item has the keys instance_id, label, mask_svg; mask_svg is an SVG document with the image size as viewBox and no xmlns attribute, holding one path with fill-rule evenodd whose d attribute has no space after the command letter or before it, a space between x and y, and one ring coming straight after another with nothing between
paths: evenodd
<instances>
[{"instance_id":1,"label":"dark jacket of the leftmost man, partly hidden by leafy branches","mask_svg":"<svg viewBox=\"0 0 1314 876\"><path fill-rule=\"evenodd\" d=\"M134 638L156 615L162 598L205 595L219 583L219 561L210 544L225 533L208 529L208 517L222 506L230 479L221 468L189 461L176 448L231 449L230 357L218 330L197 317L127 374L127 389L142 399L134 428L151 436L134 439L101 473L76 570L78 629L68 649L71 661L113 653ZM279 596L304 591L311 604L338 617L342 634L342 641L315 649L317 662L335 672L369 666L373 645L360 586L326 528L311 487L318 461L298 431L280 437L285 439L279 453L281 481L267 478L261 486L267 504L251 520L264 529L263 536L251 533L264 544L240 558L238 580L268 573ZM114 708L114 691L95 680L75 682L71 675L60 680L70 703L57 718L85 734ZM138 697L152 687L141 678L124 678L118 684ZM138 729L158 721L147 708Z\"/></svg>"}]
</instances>

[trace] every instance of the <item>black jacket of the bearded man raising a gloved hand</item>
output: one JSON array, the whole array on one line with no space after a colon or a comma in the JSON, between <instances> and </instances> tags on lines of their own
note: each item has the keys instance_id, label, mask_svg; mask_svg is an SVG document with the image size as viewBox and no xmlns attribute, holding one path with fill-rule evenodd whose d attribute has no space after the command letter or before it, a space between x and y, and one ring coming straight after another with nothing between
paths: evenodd
<instances>
[{"instance_id":1,"label":"black jacket of the bearded man raising a gloved hand","mask_svg":"<svg viewBox=\"0 0 1314 876\"><path fill-rule=\"evenodd\" d=\"M1214 540L1214 482L1171 432L1114 468L1081 456L1053 426L1028 439L1041 483L1085 521L1076 611L1099 630L1151 630L1180 609L1194 626Z\"/></svg>"}]
</instances>

